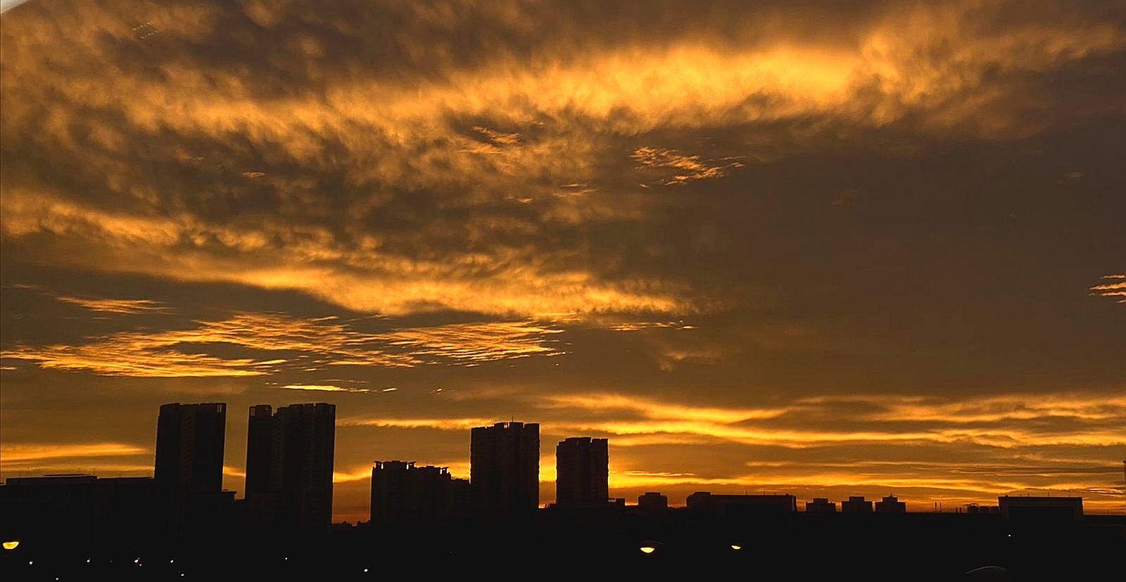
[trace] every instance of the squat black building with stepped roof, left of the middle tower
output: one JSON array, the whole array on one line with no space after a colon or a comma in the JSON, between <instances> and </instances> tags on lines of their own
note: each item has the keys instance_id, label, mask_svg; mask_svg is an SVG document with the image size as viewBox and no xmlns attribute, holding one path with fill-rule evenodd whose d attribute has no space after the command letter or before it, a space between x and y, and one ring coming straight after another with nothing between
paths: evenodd
<instances>
[{"instance_id":1,"label":"squat black building with stepped roof, left of the middle tower","mask_svg":"<svg viewBox=\"0 0 1126 582\"><path fill-rule=\"evenodd\" d=\"M447 467L376 461L372 467L373 525L434 521L464 513L470 482Z\"/></svg>"}]
</instances>

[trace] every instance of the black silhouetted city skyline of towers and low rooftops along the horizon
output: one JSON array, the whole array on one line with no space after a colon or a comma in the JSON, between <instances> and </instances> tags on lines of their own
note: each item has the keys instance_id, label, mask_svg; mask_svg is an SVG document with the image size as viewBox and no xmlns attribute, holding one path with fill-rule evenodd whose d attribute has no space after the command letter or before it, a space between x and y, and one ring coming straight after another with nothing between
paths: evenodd
<instances>
[{"instance_id":1,"label":"black silhouetted city skyline of towers and low rooftops along the horizon","mask_svg":"<svg viewBox=\"0 0 1126 582\"><path fill-rule=\"evenodd\" d=\"M253 486L241 491L240 501L247 504L238 513L244 516L242 519L245 519L245 525L250 528L285 530L292 527L304 535L327 533L331 517L327 513L322 516L321 511L325 509L323 501L325 495L331 506L332 481L319 482L318 480L322 478L316 475L327 478L332 473L336 407L316 402L288 404L275 410L271 404L253 404L249 408L248 417L250 422L245 438L247 465L253 467L248 474L256 479L245 481ZM154 456L152 476L146 479L157 485L158 491L187 495L180 501L173 501L172 507L176 507L176 503L190 503L193 494L203 493L205 495L203 499L211 499L207 495L223 491L230 493L227 499L233 502L235 495L240 493L218 488L222 474L225 472L222 453L225 418L225 402L175 402L160 406L157 449L163 454ZM223 430L216 430L218 428ZM472 479L452 474L448 466L422 465L417 461L397 458L374 460L367 524L377 527L402 526L414 521L456 521L467 517L507 520L518 519L522 515L522 510L519 509L521 506L525 509L558 507L607 510L615 506L645 506L642 501L649 498L653 498L651 501L660 499L656 507L649 506L651 510L685 507L690 510L695 508L716 511L715 508L731 503L739 507L747 507L750 503L754 507L770 508L781 502L783 506L792 508L787 511L797 511L797 502L802 499L788 492L762 491L751 494L743 491L735 494L697 490L688 494L683 503L676 503L670 502L669 495L662 492L649 491L638 495L637 502L633 503L625 498L609 494L608 439L570 436L556 444L553 458L556 482L566 481L566 495L564 499L556 495L556 499L544 500L539 497L537 488L520 484L526 480L521 474L527 479L542 474L543 457L538 455L540 453L538 430L538 424L524 421L473 427L471 474L477 474L479 481L475 483ZM318 449L322 453L318 454ZM476 455L473 453L474 449L477 451ZM328 456L324 453L328 453ZM475 473L472 471L473 458L481 465ZM526 464L529 461L533 462L531 465ZM1123 461L1123 471L1126 479L1126 460ZM86 482L84 480L96 476L92 473L25 475L18 476L14 483L46 483L52 480ZM110 478L106 482L113 481L115 479ZM133 486L138 483L132 478L124 481ZM540 480L539 485L542 484ZM307 492L313 493L311 500L305 499ZM531 498L535 498L535 503L531 503ZM1051 495L1047 498L1000 495L998 499L1028 499L1043 503L1052 498ZM1082 498L1058 499L1079 500L1076 515L1082 515ZM802 511L823 513L828 510L832 513L838 511L839 504L840 511L844 513L906 512L908 501L915 506L914 512L946 510L938 502L932 508L924 509L920 507L918 500L900 500L894 494L885 495L882 500L868 500L863 494L849 494L839 502L826 498L802 499ZM969 502L953 506L947 511L977 512L980 507L983 508L983 512L988 512L990 508L997 509L995 506L988 503ZM231 504L222 511L229 511L233 516L236 509ZM722 510L718 511L723 513ZM752 518L750 515L743 517ZM356 519L354 524L364 521Z\"/></svg>"}]
</instances>

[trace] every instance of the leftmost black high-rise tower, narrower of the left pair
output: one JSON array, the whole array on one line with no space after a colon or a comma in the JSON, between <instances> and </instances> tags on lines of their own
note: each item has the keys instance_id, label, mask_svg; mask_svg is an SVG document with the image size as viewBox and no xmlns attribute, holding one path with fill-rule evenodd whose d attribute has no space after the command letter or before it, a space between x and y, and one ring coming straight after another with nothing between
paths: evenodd
<instances>
[{"instance_id":1,"label":"leftmost black high-rise tower, narrower of the left pair","mask_svg":"<svg viewBox=\"0 0 1126 582\"><path fill-rule=\"evenodd\" d=\"M223 489L226 404L161 404L157 420L157 485L188 493Z\"/></svg>"}]
</instances>

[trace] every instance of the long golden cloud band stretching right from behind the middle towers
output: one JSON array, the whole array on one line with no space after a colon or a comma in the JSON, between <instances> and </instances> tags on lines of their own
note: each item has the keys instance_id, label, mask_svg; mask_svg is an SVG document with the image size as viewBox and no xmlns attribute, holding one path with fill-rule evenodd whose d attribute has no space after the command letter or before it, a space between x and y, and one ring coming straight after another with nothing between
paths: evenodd
<instances>
[{"instance_id":1,"label":"long golden cloud band stretching right from behind the middle towers","mask_svg":"<svg viewBox=\"0 0 1126 582\"><path fill-rule=\"evenodd\" d=\"M852 400L868 398L876 402L875 397L849 397ZM915 407L909 417L918 420L930 420L935 426L918 430L901 430L886 427L879 430L817 430L810 428L779 428L756 424L784 418L794 411L808 415L814 409L822 416L832 415L837 399L805 399L799 407L778 409L723 409L714 407L691 407L670 404L652 399L627 397L623 394L575 394L549 395L535 401L548 419L540 421L542 430L557 435L570 434L605 434L614 435L616 446L654 446L674 444L699 444L731 442L747 445L772 445L790 448L805 448L843 443L878 443L918 445L923 443L958 444L968 443L1000 448L1017 448L1027 446L1092 446L1126 444L1126 433L1101 427L1074 427L1069 430L1034 430L1004 427L971 428L959 410L971 407L989 407L995 402L1010 404L1008 398L972 399L958 403L935 402L928 406L917 397L878 397L878 401L891 412L872 412L873 421L900 420L902 407ZM1061 416L1069 411L1082 411L1099 408L1103 412L1096 419L1126 418L1126 401L1119 398L1106 398L1096 394L1046 397L1044 407L1058 402L1058 412L1053 415L1044 408L1038 416ZM1084 408L1085 407L1085 408ZM642 418L607 417L595 418L589 411L624 411ZM1074 415L1072 415L1074 416ZM832 417L829 417L832 418ZM856 418L851 416L851 418ZM983 417L985 421L997 421L1007 416ZM980 419L978 421L982 421ZM443 430L464 430L474 426L492 422L485 418L347 418L340 421L346 426L378 426L397 428L437 428ZM947 426L950 425L950 426ZM625 437L625 438L620 438Z\"/></svg>"}]
</instances>

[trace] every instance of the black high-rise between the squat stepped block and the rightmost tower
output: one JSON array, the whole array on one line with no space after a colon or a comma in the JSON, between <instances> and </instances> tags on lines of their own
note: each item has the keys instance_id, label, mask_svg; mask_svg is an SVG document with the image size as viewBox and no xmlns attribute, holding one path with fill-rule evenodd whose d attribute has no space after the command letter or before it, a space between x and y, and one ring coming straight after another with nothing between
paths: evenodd
<instances>
[{"instance_id":1,"label":"black high-rise between the squat stepped block and the rightmost tower","mask_svg":"<svg viewBox=\"0 0 1126 582\"><path fill-rule=\"evenodd\" d=\"M477 509L491 517L539 507L539 425L497 422L472 430L470 485Z\"/></svg>"}]
</instances>

